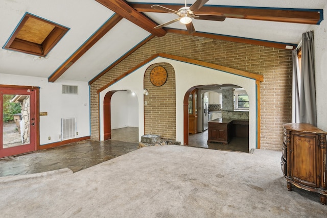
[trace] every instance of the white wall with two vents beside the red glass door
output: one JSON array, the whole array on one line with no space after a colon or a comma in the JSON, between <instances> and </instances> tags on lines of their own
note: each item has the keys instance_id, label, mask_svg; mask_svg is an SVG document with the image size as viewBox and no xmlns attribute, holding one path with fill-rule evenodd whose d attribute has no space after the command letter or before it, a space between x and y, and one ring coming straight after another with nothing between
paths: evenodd
<instances>
[{"instance_id":1,"label":"white wall with two vents beside the red glass door","mask_svg":"<svg viewBox=\"0 0 327 218\"><path fill-rule=\"evenodd\" d=\"M0 74L0 84L40 87L40 144L61 141L61 118L76 117L77 137L90 135L89 86L87 82L58 81L48 83L48 78ZM62 85L77 85L78 94L61 94ZM48 140L48 137L51 140Z\"/></svg>"}]
</instances>

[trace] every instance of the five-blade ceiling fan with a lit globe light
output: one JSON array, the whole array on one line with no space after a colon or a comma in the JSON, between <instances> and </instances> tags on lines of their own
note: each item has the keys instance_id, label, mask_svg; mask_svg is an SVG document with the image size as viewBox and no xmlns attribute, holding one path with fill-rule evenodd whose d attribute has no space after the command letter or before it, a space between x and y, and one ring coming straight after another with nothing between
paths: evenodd
<instances>
[{"instance_id":1,"label":"five-blade ceiling fan with a lit globe light","mask_svg":"<svg viewBox=\"0 0 327 218\"><path fill-rule=\"evenodd\" d=\"M214 20L214 21L224 21L226 16L220 16L220 15L208 15L208 14L196 14L196 12L209 0L196 0L191 7L186 6L186 0L185 0L185 6L180 8L178 11L166 8L164 6L160 5L153 5L151 6L152 9L177 14L179 17L176 19L173 19L169 22L162 23L161 25L158 25L154 27L154 29L159 29L162 27L165 27L167 25L170 25L173 22L180 21L184 25L186 25L186 29L188 29L189 33L192 34L195 32L194 26L192 24L192 18L199 19L199 20Z\"/></svg>"}]
</instances>

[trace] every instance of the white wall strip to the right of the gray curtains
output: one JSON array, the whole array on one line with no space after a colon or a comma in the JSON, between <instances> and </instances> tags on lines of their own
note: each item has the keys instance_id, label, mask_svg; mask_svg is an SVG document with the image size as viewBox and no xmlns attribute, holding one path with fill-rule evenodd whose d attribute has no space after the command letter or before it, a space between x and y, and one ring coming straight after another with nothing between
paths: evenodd
<instances>
[{"instance_id":1,"label":"white wall strip to the right of the gray curtains","mask_svg":"<svg viewBox=\"0 0 327 218\"><path fill-rule=\"evenodd\" d=\"M324 20L314 31L315 43L315 76L318 128L327 131L327 5L323 9Z\"/></svg>"}]
</instances>

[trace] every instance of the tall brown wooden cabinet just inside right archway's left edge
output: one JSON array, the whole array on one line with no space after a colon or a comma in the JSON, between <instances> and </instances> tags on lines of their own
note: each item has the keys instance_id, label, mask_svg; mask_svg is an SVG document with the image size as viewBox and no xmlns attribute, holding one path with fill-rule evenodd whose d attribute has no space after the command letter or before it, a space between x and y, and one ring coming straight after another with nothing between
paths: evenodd
<instances>
[{"instance_id":1,"label":"tall brown wooden cabinet just inside right archway's left edge","mask_svg":"<svg viewBox=\"0 0 327 218\"><path fill-rule=\"evenodd\" d=\"M197 91L195 89L189 96L189 133L198 132L198 110L197 110Z\"/></svg>"}]
</instances>

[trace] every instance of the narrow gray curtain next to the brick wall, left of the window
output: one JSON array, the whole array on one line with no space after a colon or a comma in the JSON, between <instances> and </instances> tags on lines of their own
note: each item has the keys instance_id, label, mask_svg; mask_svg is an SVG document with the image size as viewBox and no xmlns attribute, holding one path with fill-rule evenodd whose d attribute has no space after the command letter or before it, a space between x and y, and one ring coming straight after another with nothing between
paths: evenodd
<instances>
[{"instance_id":1,"label":"narrow gray curtain next to the brick wall, left of the window","mask_svg":"<svg viewBox=\"0 0 327 218\"><path fill-rule=\"evenodd\" d=\"M300 70L298 67L297 50L293 50L293 81L292 81L292 123L300 123Z\"/></svg>"}]
</instances>

